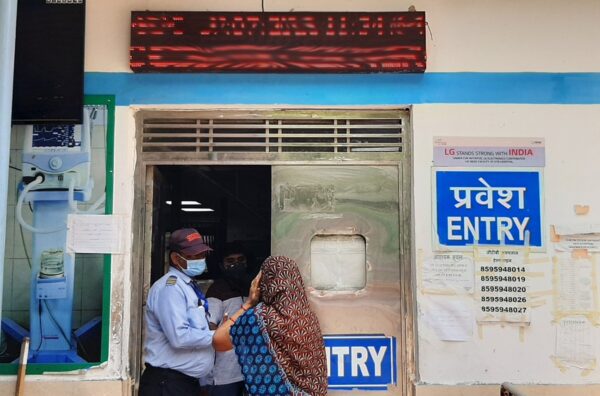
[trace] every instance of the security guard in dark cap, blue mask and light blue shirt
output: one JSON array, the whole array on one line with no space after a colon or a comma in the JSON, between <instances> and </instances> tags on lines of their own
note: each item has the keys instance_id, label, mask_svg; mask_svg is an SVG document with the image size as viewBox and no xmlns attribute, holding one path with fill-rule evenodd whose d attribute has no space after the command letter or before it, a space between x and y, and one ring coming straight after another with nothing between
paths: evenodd
<instances>
[{"instance_id":1,"label":"security guard in dark cap, blue mask and light blue shirt","mask_svg":"<svg viewBox=\"0 0 600 396\"><path fill-rule=\"evenodd\" d=\"M174 231L169 245L171 268L148 293L140 396L197 395L215 360L208 302L191 279L212 249L193 228Z\"/></svg>"}]
</instances>

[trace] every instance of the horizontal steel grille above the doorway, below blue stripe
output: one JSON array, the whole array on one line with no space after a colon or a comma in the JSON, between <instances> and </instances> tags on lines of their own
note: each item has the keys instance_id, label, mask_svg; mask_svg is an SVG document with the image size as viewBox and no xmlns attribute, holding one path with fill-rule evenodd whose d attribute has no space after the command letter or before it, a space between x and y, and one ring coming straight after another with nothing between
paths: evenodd
<instances>
[{"instance_id":1,"label":"horizontal steel grille above the doorway, below blue stripe","mask_svg":"<svg viewBox=\"0 0 600 396\"><path fill-rule=\"evenodd\" d=\"M147 112L142 153L402 153L407 110Z\"/></svg>"}]
</instances>

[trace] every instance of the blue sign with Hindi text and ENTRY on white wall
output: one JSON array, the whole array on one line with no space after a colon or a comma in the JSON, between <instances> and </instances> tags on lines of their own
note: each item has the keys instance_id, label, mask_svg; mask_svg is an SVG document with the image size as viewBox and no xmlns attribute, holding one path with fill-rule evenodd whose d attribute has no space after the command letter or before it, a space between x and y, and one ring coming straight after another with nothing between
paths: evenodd
<instances>
[{"instance_id":1,"label":"blue sign with Hindi text and ENTRY on white wall","mask_svg":"<svg viewBox=\"0 0 600 396\"><path fill-rule=\"evenodd\" d=\"M433 180L438 248L543 247L541 170L434 168Z\"/></svg>"}]
</instances>

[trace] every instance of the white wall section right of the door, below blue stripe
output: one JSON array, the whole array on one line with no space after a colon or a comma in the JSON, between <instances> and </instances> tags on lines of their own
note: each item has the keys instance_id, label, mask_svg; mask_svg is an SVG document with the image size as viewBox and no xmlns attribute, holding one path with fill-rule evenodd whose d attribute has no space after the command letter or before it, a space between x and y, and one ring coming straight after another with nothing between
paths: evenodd
<instances>
[{"instance_id":1,"label":"white wall section right of the door, below blue stripe","mask_svg":"<svg viewBox=\"0 0 600 396\"><path fill-rule=\"evenodd\" d=\"M414 107L414 196L416 249L432 252L431 166L433 136L543 137L545 231L550 224L600 223L600 106L431 105ZM576 216L575 204L590 205L586 216ZM531 257L545 263L535 271L530 290L550 292L533 308L531 324L518 327L484 325L468 342L440 341L425 323L428 303L436 298L417 292L419 363L423 383L598 383L600 370L587 376L569 369L561 372L551 359L555 353L552 257L557 256L546 235L546 253ZM563 255L565 253L562 253ZM567 253L568 257L568 253ZM420 264L420 263L419 263ZM599 279L596 279L598 284ZM474 303L474 297L466 300ZM475 305L473 305L475 309ZM481 334L481 335L480 335ZM595 339L600 329L593 329ZM594 355L600 358L598 344Z\"/></svg>"}]
</instances>

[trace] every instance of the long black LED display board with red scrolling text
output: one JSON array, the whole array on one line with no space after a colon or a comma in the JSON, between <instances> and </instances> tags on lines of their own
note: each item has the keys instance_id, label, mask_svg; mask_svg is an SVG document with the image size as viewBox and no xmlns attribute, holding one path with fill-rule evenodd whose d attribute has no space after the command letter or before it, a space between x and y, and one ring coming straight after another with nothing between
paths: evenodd
<instances>
[{"instance_id":1,"label":"long black LED display board with red scrolling text","mask_svg":"<svg viewBox=\"0 0 600 396\"><path fill-rule=\"evenodd\" d=\"M424 12L131 13L134 72L424 72Z\"/></svg>"}]
</instances>

